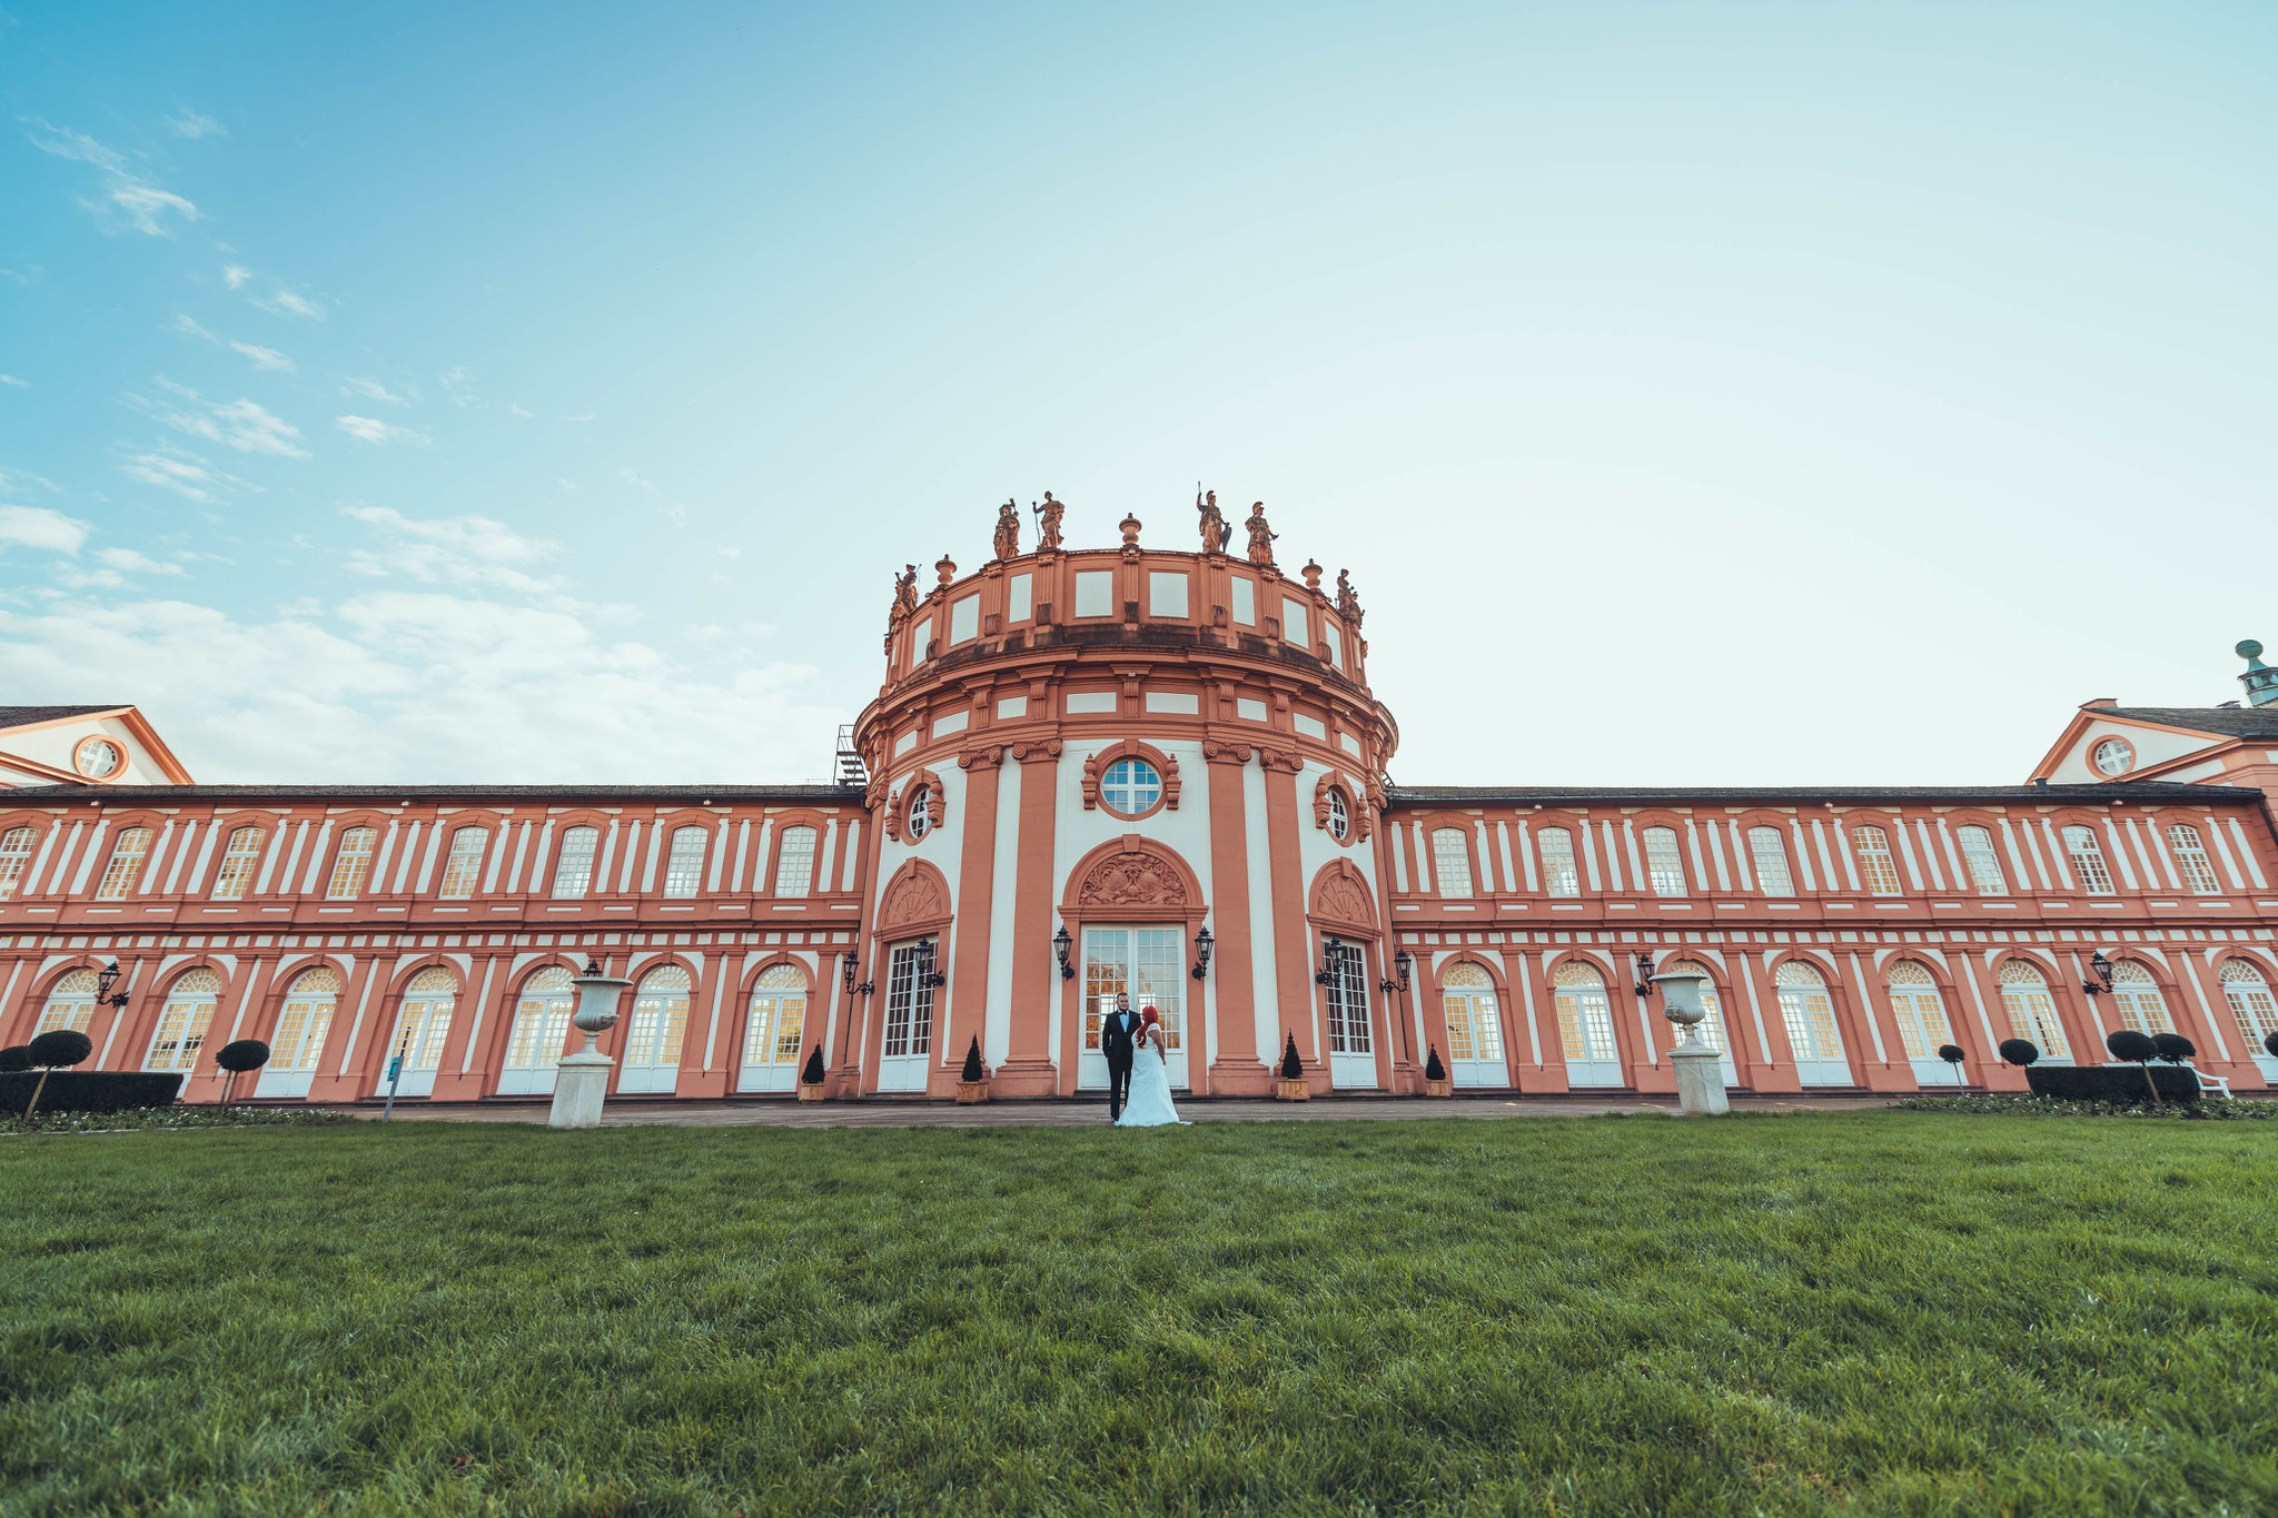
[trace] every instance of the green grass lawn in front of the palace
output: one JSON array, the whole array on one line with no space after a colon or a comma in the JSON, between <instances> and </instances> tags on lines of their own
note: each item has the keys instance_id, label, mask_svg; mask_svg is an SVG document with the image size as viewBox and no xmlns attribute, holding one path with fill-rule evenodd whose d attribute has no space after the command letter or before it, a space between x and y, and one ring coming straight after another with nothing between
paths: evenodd
<instances>
[{"instance_id":1,"label":"green grass lawn in front of the palace","mask_svg":"<svg viewBox=\"0 0 2278 1518\"><path fill-rule=\"evenodd\" d=\"M0 1138L0 1513L2269 1513L2273 1174L1927 1113Z\"/></svg>"}]
</instances>

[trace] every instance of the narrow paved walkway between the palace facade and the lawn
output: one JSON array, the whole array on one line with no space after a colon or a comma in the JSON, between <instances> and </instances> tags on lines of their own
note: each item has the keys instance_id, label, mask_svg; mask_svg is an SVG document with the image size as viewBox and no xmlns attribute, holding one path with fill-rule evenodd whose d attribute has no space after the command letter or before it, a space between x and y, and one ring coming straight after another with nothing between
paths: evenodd
<instances>
[{"instance_id":1,"label":"narrow paved walkway between the palace facade and the lawn","mask_svg":"<svg viewBox=\"0 0 2278 1518\"><path fill-rule=\"evenodd\" d=\"M1888 1097L1734 1097L1743 1113L1866 1113ZM337 1108L378 1117L376 1106ZM1317 1102L1260 1102L1242 1097L1189 1099L1180 1115L1194 1122L1337 1122L1412 1117L1604 1117L1611 1113L1674 1113L1677 1097L1321 1097ZM544 1122L547 1104L396 1104L396 1122ZM986 1129L986 1127L1103 1127L1107 1102L982 1102L957 1106L925 1099L866 1102L611 1102L601 1127L665 1124L681 1129Z\"/></svg>"}]
</instances>

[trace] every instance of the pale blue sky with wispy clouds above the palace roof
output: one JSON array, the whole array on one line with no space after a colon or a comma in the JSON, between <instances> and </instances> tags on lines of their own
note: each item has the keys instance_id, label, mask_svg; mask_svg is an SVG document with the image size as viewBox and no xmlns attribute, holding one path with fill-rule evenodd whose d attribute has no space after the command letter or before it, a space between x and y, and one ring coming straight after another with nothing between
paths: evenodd
<instances>
[{"instance_id":1,"label":"pale blue sky with wispy clouds above the palace roof","mask_svg":"<svg viewBox=\"0 0 2278 1518\"><path fill-rule=\"evenodd\" d=\"M18 5L0 699L806 778L904 560L1201 478L1351 567L1396 781L2014 781L2278 644L2271 77L2260 5Z\"/></svg>"}]
</instances>

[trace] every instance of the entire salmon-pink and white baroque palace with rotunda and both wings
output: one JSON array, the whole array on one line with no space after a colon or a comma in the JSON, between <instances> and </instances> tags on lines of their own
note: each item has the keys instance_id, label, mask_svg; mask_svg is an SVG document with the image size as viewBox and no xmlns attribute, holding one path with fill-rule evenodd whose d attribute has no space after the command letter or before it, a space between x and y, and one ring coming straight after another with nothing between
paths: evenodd
<instances>
[{"instance_id":1,"label":"entire salmon-pink and white baroque palace with rotunda and both wings","mask_svg":"<svg viewBox=\"0 0 2278 1518\"><path fill-rule=\"evenodd\" d=\"M1738 1090L2023 1086L2180 1031L2278 1061L2278 669L2246 703L2082 706L2023 785L1392 785L1344 576L1198 503L1198 551L1041 544L895 585L877 699L811 785L196 785L132 706L0 708L0 1045L93 1067L260 1038L257 1097L533 1102L588 958L633 981L622 1097L1105 1086L1162 1008L1173 1086L1674 1090L1640 967L1708 976ZM1194 544L1194 528L1182 528ZM2098 958L2100 956L2100 958ZM116 967L116 976L105 972ZM2109 981L2107 981L2109 976ZM1959 1065L1939 1058L1964 1051Z\"/></svg>"}]
</instances>

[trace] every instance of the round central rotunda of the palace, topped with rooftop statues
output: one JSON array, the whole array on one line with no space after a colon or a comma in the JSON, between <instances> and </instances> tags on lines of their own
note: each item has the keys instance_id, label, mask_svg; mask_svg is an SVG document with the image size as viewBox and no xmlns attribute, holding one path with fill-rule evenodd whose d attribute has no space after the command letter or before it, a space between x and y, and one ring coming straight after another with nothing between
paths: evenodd
<instances>
[{"instance_id":1,"label":"round central rotunda of the palace, topped with rooftop statues","mask_svg":"<svg viewBox=\"0 0 2278 1518\"><path fill-rule=\"evenodd\" d=\"M1162 1013L1175 1088L1260 1095L1289 1038L1317 1088L1403 1088L1399 728L1351 585L1285 576L1264 508L1228 523L1214 494L1191 553L1137 517L1066 548L1064 505L1032 510L1032 553L1005 503L977 574L895 585L854 726L879 826L843 1088L948 1092L980 1038L1000 1097L1105 1090L1116 992Z\"/></svg>"}]
</instances>

